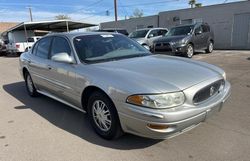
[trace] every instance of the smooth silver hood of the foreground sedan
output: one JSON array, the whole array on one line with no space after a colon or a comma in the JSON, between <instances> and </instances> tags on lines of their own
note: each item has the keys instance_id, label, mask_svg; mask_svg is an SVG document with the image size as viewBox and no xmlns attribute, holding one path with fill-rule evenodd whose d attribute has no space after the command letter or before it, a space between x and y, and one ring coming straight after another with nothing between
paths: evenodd
<instances>
[{"instance_id":1,"label":"smooth silver hood of the foreground sedan","mask_svg":"<svg viewBox=\"0 0 250 161\"><path fill-rule=\"evenodd\" d=\"M156 92L184 90L220 74L213 65L165 55L110 61L94 66L122 86L152 88Z\"/></svg>"}]
</instances>

